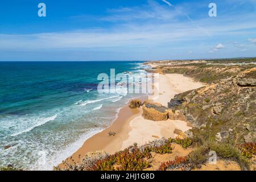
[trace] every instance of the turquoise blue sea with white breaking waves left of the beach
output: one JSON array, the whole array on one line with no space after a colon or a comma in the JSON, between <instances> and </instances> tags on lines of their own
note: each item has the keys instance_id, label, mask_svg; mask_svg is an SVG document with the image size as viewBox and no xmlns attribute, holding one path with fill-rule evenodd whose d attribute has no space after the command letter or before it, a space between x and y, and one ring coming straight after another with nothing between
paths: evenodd
<instances>
[{"instance_id":1,"label":"turquoise blue sea with white breaking waves left of the beach","mask_svg":"<svg viewBox=\"0 0 256 182\"><path fill-rule=\"evenodd\" d=\"M0 166L52 169L109 126L138 97L97 92L111 68L143 73L138 61L0 62Z\"/></svg>"}]
</instances>

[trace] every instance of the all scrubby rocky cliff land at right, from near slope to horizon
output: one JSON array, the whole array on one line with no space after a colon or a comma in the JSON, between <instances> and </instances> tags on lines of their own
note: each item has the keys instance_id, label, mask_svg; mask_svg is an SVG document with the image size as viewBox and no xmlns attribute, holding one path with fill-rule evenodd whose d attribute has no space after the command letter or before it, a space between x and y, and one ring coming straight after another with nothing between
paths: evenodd
<instances>
[{"instance_id":1,"label":"all scrubby rocky cliff land at right, from near slope to horizon","mask_svg":"<svg viewBox=\"0 0 256 182\"><path fill-rule=\"evenodd\" d=\"M251 61L236 61L185 61L179 65L166 61L153 70L183 73L207 83L168 102L172 111L193 123L193 133L217 141L256 142L256 67Z\"/></svg>"}]
</instances>

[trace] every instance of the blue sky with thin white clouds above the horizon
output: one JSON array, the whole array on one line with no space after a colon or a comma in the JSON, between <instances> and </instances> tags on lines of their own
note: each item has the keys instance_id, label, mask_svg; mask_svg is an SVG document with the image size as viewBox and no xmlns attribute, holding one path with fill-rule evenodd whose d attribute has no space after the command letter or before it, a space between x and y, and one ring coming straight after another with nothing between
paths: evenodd
<instances>
[{"instance_id":1,"label":"blue sky with thin white clouds above the horizon","mask_svg":"<svg viewBox=\"0 0 256 182\"><path fill-rule=\"evenodd\" d=\"M46 17L38 16L38 4ZM217 16L209 16L216 3ZM1 61L256 56L256 0L2 0Z\"/></svg>"}]
</instances>

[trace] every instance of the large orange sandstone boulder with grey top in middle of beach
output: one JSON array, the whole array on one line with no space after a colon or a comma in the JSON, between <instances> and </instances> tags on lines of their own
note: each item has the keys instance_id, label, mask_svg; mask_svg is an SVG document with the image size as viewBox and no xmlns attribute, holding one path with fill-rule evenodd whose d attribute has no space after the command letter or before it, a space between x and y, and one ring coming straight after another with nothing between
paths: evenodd
<instances>
[{"instance_id":1,"label":"large orange sandstone boulder with grey top in middle of beach","mask_svg":"<svg viewBox=\"0 0 256 182\"><path fill-rule=\"evenodd\" d=\"M152 121L166 121L168 119L168 108L155 102L146 102L142 106L145 119Z\"/></svg>"}]
</instances>

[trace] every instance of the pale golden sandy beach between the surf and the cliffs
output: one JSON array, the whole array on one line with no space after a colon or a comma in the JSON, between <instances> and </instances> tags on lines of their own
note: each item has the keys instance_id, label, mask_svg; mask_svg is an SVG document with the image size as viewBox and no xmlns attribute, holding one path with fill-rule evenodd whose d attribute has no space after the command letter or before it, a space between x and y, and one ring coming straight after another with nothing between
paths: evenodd
<instances>
[{"instance_id":1,"label":"pale golden sandy beach between the surf and the cliffs","mask_svg":"<svg viewBox=\"0 0 256 182\"><path fill-rule=\"evenodd\" d=\"M168 101L175 94L204 86L200 82L195 82L191 78L179 74L159 75L157 80L154 83L154 94L148 96L148 99L164 106L167 106ZM143 101L147 98L139 99ZM168 119L167 121L156 122L144 119L142 108L130 109L126 105L119 111L118 118L111 126L84 142L83 146L72 155L72 160L79 162L82 156L90 151L105 151L114 154L114 152L131 146L133 143L142 145L157 138L175 138L177 137L175 129L184 132L191 127L187 126L185 121ZM109 136L110 131L113 131L115 135ZM71 158L68 158L66 162L72 163ZM60 164L60 167L62 166L63 164Z\"/></svg>"}]
</instances>

